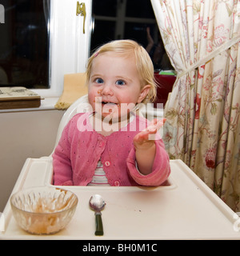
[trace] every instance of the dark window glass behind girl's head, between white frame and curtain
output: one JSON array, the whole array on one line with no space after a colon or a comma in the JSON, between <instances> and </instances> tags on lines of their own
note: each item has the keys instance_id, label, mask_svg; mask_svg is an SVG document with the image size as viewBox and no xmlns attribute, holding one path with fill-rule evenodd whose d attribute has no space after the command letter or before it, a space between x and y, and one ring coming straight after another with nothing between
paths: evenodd
<instances>
[{"instance_id":1,"label":"dark window glass behind girl's head, between white frame and curtain","mask_svg":"<svg viewBox=\"0 0 240 256\"><path fill-rule=\"evenodd\" d=\"M133 39L149 52L154 69L170 70L150 0L93 0L90 49L115 39Z\"/></svg>"}]
</instances>

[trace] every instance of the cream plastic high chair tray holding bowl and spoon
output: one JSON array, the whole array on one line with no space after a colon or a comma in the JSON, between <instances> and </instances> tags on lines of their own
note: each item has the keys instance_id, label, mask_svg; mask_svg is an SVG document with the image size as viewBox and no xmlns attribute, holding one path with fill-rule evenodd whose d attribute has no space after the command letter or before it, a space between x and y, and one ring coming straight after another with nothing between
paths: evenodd
<instances>
[{"instance_id":1,"label":"cream plastic high chair tray holding bowl and spoon","mask_svg":"<svg viewBox=\"0 0 240 256\"><path fill-rule=\"evenodd\" d=\"M171 160L170 178L158 187L64 186L78 196L74 217L65 229L48 236L18 227L7 202L1 239L240 239L237 214L181 160ZM52 186L52 159L28 158L13 193L30 186ZM101 194L104 235L94 235L89 199Z\"/></svg>"}]
</instances>

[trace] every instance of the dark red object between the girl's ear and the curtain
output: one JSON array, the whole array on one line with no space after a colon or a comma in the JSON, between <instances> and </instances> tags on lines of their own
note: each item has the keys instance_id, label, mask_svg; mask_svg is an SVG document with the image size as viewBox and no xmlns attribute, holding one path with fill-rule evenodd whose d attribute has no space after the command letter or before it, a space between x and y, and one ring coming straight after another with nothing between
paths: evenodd
<instances>
[{"instance_id":1,"label":"dark red object between the girl's ear and the curtain","mask_svg":"<svg viewBox=\"0 0 240 256\"><path fill-rule=\"evenodd\" d=\"M165 106L168 94L173 89L176 76L155 73L154 77L158 82L157 98L154 102L154 107L157 107L157 103L162 103Z\"/></svg>"}]
</instances>

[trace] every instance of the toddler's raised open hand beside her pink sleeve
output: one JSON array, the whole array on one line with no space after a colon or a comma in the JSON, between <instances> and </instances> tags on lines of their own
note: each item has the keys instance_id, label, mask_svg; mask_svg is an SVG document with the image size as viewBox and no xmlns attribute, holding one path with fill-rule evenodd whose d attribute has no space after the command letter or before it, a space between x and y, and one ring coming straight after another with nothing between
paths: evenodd
<instances>
[{"instance_id":1,"label":"toddler's raised open hand beside her pink sleeve","mask_svg":"<svg viewBox=\"0 0 240 256\"><path fill-rule=\"evenodd\" d=\"M142 130L140 133L134 137L134 146L138 150L148 150L151 146L154 145L154 134L164 125L166 118L161 120L154 119L150 122L150 125L146 127L145 130Z\"/></svg>"}]
</instances>

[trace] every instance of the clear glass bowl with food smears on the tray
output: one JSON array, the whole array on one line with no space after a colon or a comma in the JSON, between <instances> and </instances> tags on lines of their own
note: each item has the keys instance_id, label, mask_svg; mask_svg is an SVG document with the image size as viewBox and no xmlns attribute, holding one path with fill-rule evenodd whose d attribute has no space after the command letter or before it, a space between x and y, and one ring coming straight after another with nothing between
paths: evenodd
<instances>
[{"instance_id":1,"label":"clear glass bowl with food smears on the tray","mask_svg":"<svg viewBox=\"0 0 240 256\"><path fill-rule=\"evenodd\" d=\"M10 198L18 225L30 234L54 234L74 216L78 197L69 190L52 186L20 190Z\"/></svg>"}]
</instances>

